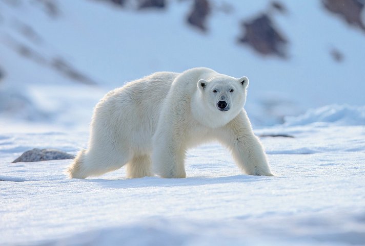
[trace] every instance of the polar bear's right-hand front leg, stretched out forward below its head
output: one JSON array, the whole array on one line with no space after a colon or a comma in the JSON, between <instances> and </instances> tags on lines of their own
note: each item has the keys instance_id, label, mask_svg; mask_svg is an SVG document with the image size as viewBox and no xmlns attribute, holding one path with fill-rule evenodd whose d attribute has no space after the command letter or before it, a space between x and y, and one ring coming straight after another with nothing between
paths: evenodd
<instances>
[{"instance_id":1,"label":"polar bear's right-hand front leg, stretched out forward below its head","mask_svg":"<svg viewBox=\"0 0 365 246\"><path fill-rule=\"evenodd\" d=\"M232 120L221 132L220 139L231 150L237 166L250 175L274 176L265 151L254 135L245 111Z\"/></svg>"}]
</instances>

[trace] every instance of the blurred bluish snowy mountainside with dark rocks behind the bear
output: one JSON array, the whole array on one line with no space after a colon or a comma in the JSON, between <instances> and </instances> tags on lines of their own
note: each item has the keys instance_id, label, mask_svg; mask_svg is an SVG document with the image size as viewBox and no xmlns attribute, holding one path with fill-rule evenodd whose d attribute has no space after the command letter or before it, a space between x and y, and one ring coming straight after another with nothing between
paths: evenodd
<instances>
[{"instance_id":1,"label":"blurred bluish snowy mountainside with dark rocks behind the bear","mask_svg":"<svg viewBox=\"0 0 365 246\"><path fill-rule=\"evenodd\" d=\"M108 90L194 66L248 76L256 126L363 105L365 33L326 2L2 0L0 118L85 126Z\"/></svg>"}]
</instances>

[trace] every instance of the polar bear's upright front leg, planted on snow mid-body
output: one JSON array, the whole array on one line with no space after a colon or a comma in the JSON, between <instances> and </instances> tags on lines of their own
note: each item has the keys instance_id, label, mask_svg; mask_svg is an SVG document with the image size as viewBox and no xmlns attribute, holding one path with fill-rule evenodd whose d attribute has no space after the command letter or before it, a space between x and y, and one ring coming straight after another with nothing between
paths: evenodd
<instances>
[{"instance_id":1,"label":"polar bear's upright front leg, planted on snow mid-body","mask_svg":"<svg viewBox=\"0 0 365 246\"><path fill-rule=\"evenodd\" d=\"M176 138L166 131L157 131L153 141L153 171L164 178L183 178L185 172L185 150Z\"/></svg>"}]
</instances>

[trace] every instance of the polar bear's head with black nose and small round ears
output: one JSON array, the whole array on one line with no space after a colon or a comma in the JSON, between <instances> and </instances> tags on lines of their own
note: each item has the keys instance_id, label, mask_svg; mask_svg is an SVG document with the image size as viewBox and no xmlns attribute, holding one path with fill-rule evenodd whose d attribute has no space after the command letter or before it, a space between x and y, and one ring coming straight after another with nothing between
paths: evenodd
<instances>
[{"instance_id":1,"label":"polar bear's head with black nose and small round ears","mask_svg":"<svg viewBox=\"0 0 365 246\"><path fill-rule=\"evenodd\" d=\"M235 118L246 103L249 79L221 75L209 80L200 79L200 103L208 109L205 113L214 118L213 125L221 126Z\"/></svg>"}]
</instances>

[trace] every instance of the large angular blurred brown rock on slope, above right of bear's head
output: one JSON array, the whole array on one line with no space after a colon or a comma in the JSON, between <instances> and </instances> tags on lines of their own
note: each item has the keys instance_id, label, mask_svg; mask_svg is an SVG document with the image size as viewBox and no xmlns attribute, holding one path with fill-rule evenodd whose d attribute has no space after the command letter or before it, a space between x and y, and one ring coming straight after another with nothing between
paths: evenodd
<instances>
[{"instance_id":1,"label":"large angular blurred brown rock on slope, above right of bear's head","mask_svg":"<svg viewBox=\"0 0 365 246\"><path fill-rule=\"evenodd\" d=\"M287 57L286 44L288 41L274 27L273 21L267 14L244 21L242 23L244 35L239 38L239 42L247 43L255 51L263 55L278 55Z\"/></svg>"}]
</instances>

